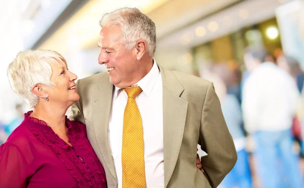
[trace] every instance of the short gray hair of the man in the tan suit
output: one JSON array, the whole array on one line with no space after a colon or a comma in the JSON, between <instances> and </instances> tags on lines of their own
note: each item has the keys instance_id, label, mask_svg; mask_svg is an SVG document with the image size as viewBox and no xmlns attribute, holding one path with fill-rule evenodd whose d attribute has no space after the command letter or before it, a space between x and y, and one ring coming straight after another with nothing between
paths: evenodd
<instances>
[{"instance_id":1,"label":"short gray hair of the man in the tan suit","mask_svg":"<svg viewBox=\"0 0 304 188\"><path fill-rule=\"evenodd\" d=\"M136 8L122 8L105 14L101 27L121 27L123 38L121 43L126 50L131 50L140 39L146 41L148 55L153 57L156 50L155 23Z\"/></svg>"}]
</instances>

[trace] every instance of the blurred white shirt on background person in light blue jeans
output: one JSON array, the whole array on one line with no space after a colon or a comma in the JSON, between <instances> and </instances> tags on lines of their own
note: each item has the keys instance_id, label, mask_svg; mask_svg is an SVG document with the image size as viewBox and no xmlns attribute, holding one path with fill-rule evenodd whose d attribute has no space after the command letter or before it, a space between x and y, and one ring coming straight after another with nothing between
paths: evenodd
<instances>
[{"instance_id":1,"label":"blurred white shirt on background person in light blue jeans","mask_svg":"<svg viewBox=\"0 0 304 188\"><path fill-rule=\"evenodd\" d=\"M290 129L298 98L295 81L286 71L271 62L260 64L244 84L245 129L249 133Z\"/></svg>"}]
</instances>

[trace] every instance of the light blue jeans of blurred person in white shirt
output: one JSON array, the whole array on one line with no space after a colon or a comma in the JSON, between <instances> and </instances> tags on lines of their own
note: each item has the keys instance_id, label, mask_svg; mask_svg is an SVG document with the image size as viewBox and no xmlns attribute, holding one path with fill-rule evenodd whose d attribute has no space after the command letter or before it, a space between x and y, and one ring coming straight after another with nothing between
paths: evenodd
<instances>
[{"instance_id":1,"label":"light blue jeans of blurred person in white shirt","mask_svg":"<svg viewBox=\"0 0 304 188\"><path fill-rule=\"evenodd\" d=\"M256 171L261 188L302 188L299 157L292 152L291 130L254 134Z\"/></svg>"}]
</instances>

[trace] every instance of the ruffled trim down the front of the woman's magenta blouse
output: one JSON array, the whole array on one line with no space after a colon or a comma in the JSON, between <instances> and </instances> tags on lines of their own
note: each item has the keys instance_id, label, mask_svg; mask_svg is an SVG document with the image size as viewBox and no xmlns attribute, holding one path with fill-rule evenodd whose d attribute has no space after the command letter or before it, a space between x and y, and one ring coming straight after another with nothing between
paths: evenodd
<instances>
[{"instance_id":1,"label":"ruffled trim down the front of the woman's magenta blouse","mask_svg":"<svg viewBox=\"0 0 304 188\"><path fill-rule=\"evenodd\" d=\"M92 148L89 140L87 139L84 131L82 130L80 125L77 125L77 122L71 122L66 117L66 125L68 127L67 134L70 140L70 143L80 149L81 154L86 157L85 163L90 166L90 170L92 172L88 173L86 169L81 165L80 160L78 160L78 156L73 150L73 147L69 146L62 139L59 139L58 135L52 130L50 126L46 124L46 122L30 117L29 115L32 111L28 111L25 114L24 123L26 123L29 130L33 135L36 136L38 140L42 143L50 146L56 152L60 161L65 165L65 167L69 170L70 174L77 180L79 187L84 187L77 177L77 171L81 172L82 175L87 180L87 185L89 187L93 187L92 179L96 181L96 184L104 184L106 183L105 179L105 171L96 156L94 149ZM27 123L27 121L31 121ZM34 122L34 123L33 123ZM71 161L64 159L64 156L61 154L59 147L67 150L68 157ZM98 165L100 163L100 166ZM101 169L100 169L101 168ZM97 178L96 178L97 177ZM87 186L86 186L87 187Z\"/></svg>"}]
</instances>

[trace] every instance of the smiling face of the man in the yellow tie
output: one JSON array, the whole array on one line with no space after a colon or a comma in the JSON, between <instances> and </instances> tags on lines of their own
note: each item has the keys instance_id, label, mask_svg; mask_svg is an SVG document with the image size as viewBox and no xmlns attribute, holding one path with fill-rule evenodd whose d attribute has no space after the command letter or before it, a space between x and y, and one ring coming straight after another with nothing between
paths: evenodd
<instances>
[{"instance_id":1,"label":"smiling face of the man in the yellow tie","mask_svg":"<svg viewBox=\"0 0 304 188\"><path fill-rule=\"evenodd\" d=\"M126 50L121 44L122 31L120 27L103 27L100 31L98 47L99 64L105 64L110 83L119 87L130 87L133 83L138 65L134 48ZM131 85L130 85L131 84Z\"/></svg>"}]
</instances>

